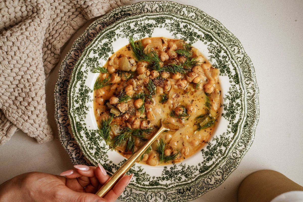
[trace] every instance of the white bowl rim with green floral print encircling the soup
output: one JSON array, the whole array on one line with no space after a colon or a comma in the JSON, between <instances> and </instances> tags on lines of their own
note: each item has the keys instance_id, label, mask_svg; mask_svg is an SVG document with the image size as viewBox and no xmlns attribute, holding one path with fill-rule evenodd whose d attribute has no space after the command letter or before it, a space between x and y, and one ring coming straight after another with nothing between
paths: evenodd
<instances>
[{"instance_id":1,"label":"white bowl rim with green floral print encircling the soup","mask_svg":"<svg viewBox=\"0 0 303 202\"><path fill-rule=\"evenodd\" d=\"M192 44L220 70L223 96L216 131L201 151L177 164L157 167L135 164L129 170L134 173L134 180L128 187L145 192L166 192L194 185L201 190L218 186L238 166L254 137L247 122L256 123L258 119L256 101L249 102L249 97L253 95L251 97L255 99L255 96L247 89L249 85L246 83L254 78L250 71L252 65L240 64L243 53L238 46L227 45L220 33L197 24L194 18L169 12L134 15L115 22L100 31L78 59L68 86L68 116L83 154L92 164L101 163L110 174L126 161L117 152L108 150L96 132L98 126L92 97L98 74L91 71L104 65L110 55L127 45L128 35L134 38L181 38ZM245 71L250 72L247 74ZM253 82L251 84L254 85ZM224 167L228 167L228 174L224 174Z\"/></svg>"}]
</instances>

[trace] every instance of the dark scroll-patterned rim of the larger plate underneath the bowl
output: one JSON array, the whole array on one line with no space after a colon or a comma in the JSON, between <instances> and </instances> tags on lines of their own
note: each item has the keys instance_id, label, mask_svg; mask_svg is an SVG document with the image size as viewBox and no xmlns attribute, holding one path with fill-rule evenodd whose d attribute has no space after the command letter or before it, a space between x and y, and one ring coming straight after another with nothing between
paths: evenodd
<instances>
[{"instance_id":1,"label":"dark scroll-patterned rim of the larger plate underneath the bowl","mask_svg":"<svg viewBox=\"0 0 303 202\"><path fill-rule=\"evenodd\" d=\"M127 8L128 8L128 10L127 10ZM226 159L223 164L219 165L216 168L217 170L215 172L215 175L212 175L205 180L201 180L199 183L193 184L191 187L185 186L184 188L181 188L178 190L172 190L172 191L168 191L168 192L156 192L156 193L141 192L138 190L134 190L132 188L127 188L125 190L125 192L122 194L122 196L120 197L121 200L125 200L125 201L134 201L134 200L135 201L154 201L154 200L156 200L156 201L178 201L178 200L180 200L180 197L182 198L183 201L193 200L193 199L201 196L202 194L204 194L206 191L217 187L238 166L238 164L241 160L241 157L246 153L247 149L249 148L250 144L252 143L255 127L256 127L256 124L258 121L258 113L259 113L258 112L258 88L257 88L257 84L255 81L254 69L253 69L253 66L251 65L249 58L247 57L243 48L241 47L241 44L219 22L217 22L213 18L209 17L208 15L203 13L201 10L191 7L191 6L180 5L180 4L173 3L173 2L140 2L135 5L120 7L120 8L113 10L112 11L113 13L110 12L108 14L108 16L104 16L103 19L100 18L97 21L95 21L94 23L92 23L92 25L90 25L90 27L86 30L86 32L84 32L75 41L71 51L69 51L69 53L65 57L64 61L62 62L62 65L60 68L60 72L62 75L59 75L58 82L56 84L56 88L58 89L58 91L56 91L56 88L55 88L55 92L59 92L58 97L55 97L55 104L56 104L56 99L58 99L58 100L61 99L60 100L61 103L63 103L65 101L65 104L66 104L66 100L64 100L66 98L66 85L62 85L62 84L64 84L65 81L68 84L68 79L69 79L68 77L69 77L70 71L72 70L72 67L73 67L73 63L70 63L69 61L74 62L77 60L78 55L80 55L82 50L84 49L84 47L81 46L81 44L83 44L83 41L85 41L85 39L87 39L87 38L93 38L94 34L98 31L100 31L100 29L102 28L102 26L104 25L104 22L106 20L109 20L109 19L111 19L111 17L121 15L121 14L129 15L129 14L134 14L134 12L141 13L141 12L166 11L165 9L168 11L169 11L169 9L173 9L175 12L178 11L176 13L185 15L185 16L191 16L191 18L194 17L193 19L195 19L195 20L203 19L206 16L206 17L208 17L207 18L208 20L207 20L207 22L204 22L204 24L207 24L209 22L209 19L211 19L215 25L221 26L221 27L219 26L217 29L219 29L222 32L220 35L218 35L219 37L218 36L216 36L216 37L221 38L221 39L229 38L229 40L223 40L225 42L232 41L232 43L227 43L228 44L227 47L228 47L228 50L231 52L231 55L233 55L235 58L237 58L237 62L240 65L240 69L241 69L239 74L244 75L244 76L241 76L240 78L243 79L245 87L246 87L247 97L245 98L245 100L247 101L247 105L248 105L247 109L249 111L248 113L250 114L250 116L246 119L245 124L243 125L241 137L238 138L237 148L234 148L233 151L229 153L230 155L229 155L228 159ZM125 11L128 11L129 13L126 14ZM107 18L107 17L109 17L109 18ZM120 17L120 16L118 16L118 17ZM100 22L102 22L102 21L103 21L103 24L101 23L102 24L101 25ZM196 22L196 23L198 24L198 22ZM210 27L210 26L208 26L208 27ZM98 31L96 31L96 30L98 30ZM212 28L212 30L215 30L215 29ZM92 36L92 33L93 33L93 36ZM217 33L219 33L219 32L217 32ZM86 40L86 41L89 41L89 40ZM84 42L84 44L86 45L87 42L86 43ZM72 65L69 65L69 64L72 64ZM218 65L219 65L219 62L218 62ZM221 69L220 69L220 71L221 71ZM228 75L228 72L225 72L225 73L221 72L221 73ZM233 78L233 79L236 79L236 78ZM66 112L66 106L61 104L56 109L57 109L58 117L62 118L62 115L60 115L60 114L64 114ZM56 115L56 111L55 111L55 115ZM232 114L227 114L225 116L227 116L227 117L232 116ZM57 117L56 117L56 119L57 119ZM58 120L64 120L64 119L58 119ZM58 128L59 128L59 133L61 132L61 134L70 134L70 129L68 129L68 128L67 128L67 130L65 128L64 133L62 130L60 131L59 125L60 126L63 125L64 127L66 127L66 125L68 125L68 118L65 119L65 122L59 123ZM243 134L245 134L245 135L243 135ZM62 136L62 137L63 138L61 138L61 141L62 141L62 145L65 147L65 149L68 152L72 151L73 153L75 153L75 150L77 150L77 148L76 148L77 144L72 142L73 141L72 138L69 139L68 141L66 141L67 138L65 138L65 137L68 137L68 136ZM219 139L222 139L222 138L220 137ZM227 140L222 141L222 144L225 144L226 142L228 142L228 141ZM218 154L221 152L216 149L216 147L218 147L218 145L216 146L215 144L214 145L209 144L207 147L208 148L206 148L204 150L205 155L208 155L207 154L208 152L217 152ZM81 154L79 154L79 156L75 156L73 154L70 156L74 163L79 163L79 162L85 161L85 160L83 160L85 158ZM177 165L175 165L175 166L177 166ZM175 168L175 170L177 172L179 170L181 170L181 171L186 170L186 167L182 167L183 169L180 169L180 168L181 167L179 167L179 169ZM171 171L171 170L168 169L167 172L169 172L169 171ZM181 172L181 171L179 171L179 172ZM176 174L178 175L178 173L176 173Z\"/></svg>"}]
</instances>

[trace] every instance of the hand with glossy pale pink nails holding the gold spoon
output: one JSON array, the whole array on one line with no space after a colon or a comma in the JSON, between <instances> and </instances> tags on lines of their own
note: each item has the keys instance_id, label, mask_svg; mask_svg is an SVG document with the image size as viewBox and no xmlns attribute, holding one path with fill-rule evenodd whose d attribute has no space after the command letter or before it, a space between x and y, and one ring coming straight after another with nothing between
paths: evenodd
<instances>
[{"instance_id":1,"label":"hand with glossy pale pink nails holding the gold spoon","mask_svg":"<svg viewBox=\"0 0 303 202\"><path fill-rule=\"evenodd\" d=\"M74 167L60 176L39 172L18 175L0 185L0 201L113 202L133 176L123 176L112 190L101 198L95 193L109 178L105 169L101 165Z\"/></svg>"}]
</instances>

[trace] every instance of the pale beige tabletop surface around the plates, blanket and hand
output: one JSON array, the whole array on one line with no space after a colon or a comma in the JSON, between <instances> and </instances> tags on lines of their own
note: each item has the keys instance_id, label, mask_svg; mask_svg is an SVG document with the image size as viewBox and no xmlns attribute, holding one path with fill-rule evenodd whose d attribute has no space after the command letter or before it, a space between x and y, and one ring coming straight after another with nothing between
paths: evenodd
<instances>
[{"instance_id":1,"label":"pale beige tabletop surface around the plates, blanket and hand","mask_svg":"<svg viewBox=\"0 0 303 202\"><path fill-rule=\"evenodd\" d=\"M279 171L303 185L303 1L175 2L200 8L241 41L255 66L260 90L260 119L254 143L223 184L194 201L237 201L241 181L261 169ZM84 28L62 48L61 60ZM0 146L0 184L24 172L60 174L72 168L54 120L53 92L59 65L46 81L46 105L55 139L38 144L22 131L16 132Z\"/></svg>"}]
</instances>

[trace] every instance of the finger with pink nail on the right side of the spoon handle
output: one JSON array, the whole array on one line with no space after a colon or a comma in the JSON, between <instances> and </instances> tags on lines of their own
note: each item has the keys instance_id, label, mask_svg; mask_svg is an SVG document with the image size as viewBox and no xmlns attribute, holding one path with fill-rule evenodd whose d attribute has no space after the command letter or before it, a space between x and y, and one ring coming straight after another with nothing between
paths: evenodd
<instances>
[{"instance_id":1,"label":"finger with pink nail on the right side of the spoon handle","mask_svg":"<svg viewBox=\"0 0 303 202\"><path fill-rule=\"evenodd\" d=\"M130 183L134 174L123 176L115 186L109 190L103 197L107 202L114 202L124 191L125 187Z\"/></svg>"}]
</instances>

